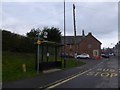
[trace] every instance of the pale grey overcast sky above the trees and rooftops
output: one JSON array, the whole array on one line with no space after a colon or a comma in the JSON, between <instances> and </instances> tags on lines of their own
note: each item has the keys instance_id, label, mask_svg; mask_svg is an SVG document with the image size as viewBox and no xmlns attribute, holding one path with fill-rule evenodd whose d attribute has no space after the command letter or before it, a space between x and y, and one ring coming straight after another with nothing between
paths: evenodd
<instances>
[{"instance_id":1,"label":"pale grey overcast sky above the trees and rooftops","mask_svg":"<svg viewBox=\"0 0 120 90\"><path fill-rule=\"evenodd\" d=\"M0 11L2 13L0 28L26 35L32 28L54 26L58 27L63 35L63 1L22 3L5 1L2 2ZM66 35L74 35L73 3L77 35L81 35L82 29L85 30L85 35L92 32L93 36L102 42L102 47L113 47L118 42L117 2L66 2Z\"/></svg>"}]
</instances>

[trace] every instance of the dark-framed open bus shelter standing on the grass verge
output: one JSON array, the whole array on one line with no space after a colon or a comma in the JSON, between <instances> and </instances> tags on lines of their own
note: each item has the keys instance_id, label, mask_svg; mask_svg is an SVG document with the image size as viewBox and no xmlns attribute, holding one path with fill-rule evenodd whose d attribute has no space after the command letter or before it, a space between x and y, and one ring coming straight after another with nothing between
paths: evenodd
<instances>
[{"instance_id":1,"label":"dark-framed open bus shelter standing on the grass verge","mask_svg":"<svg viewBox=\"0 0 120 90\"><path fill-rule=\"evenodd\" d=\"M43 41L39 45L39 70L48 70L53 68L62 68L61 47L63 45L50 41ZM36 53L37 68L37 53Z\"/></svg>"}]
</instances>

